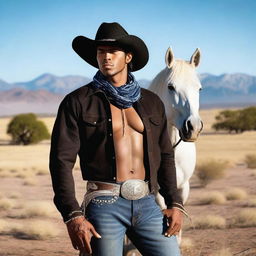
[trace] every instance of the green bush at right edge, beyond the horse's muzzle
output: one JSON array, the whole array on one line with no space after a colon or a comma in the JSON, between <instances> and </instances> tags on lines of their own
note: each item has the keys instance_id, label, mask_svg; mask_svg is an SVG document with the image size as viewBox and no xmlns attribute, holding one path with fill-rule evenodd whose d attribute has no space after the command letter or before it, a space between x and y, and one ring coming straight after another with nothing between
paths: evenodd
<instances>
[{"instance_id":1,"label":"green bush at right edge, beyond the horse's muzzle","mask_svg":"<svg viewBox=\"0 0 256 256\"><path fill-rule=\"evenodd\" d=\"M216 123L212 128L216 131L226 130L236 133L256 130L256 107L248 107L240 110L224 110L216 117Z\"/></svg>"}]
</instances>

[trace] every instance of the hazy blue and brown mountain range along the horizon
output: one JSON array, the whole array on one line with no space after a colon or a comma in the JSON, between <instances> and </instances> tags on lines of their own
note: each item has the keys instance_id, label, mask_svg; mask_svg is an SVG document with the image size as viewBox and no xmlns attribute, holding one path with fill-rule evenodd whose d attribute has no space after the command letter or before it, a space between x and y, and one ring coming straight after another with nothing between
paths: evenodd
<instances>
[{"instance_id":1,"label":"hazy blue and brown mountain range along the horizon","mask_svg":"<svg viewBox=\"0 0 256 256\"><path fill-rule=\"evenodd\" d=\"M199 75L202 108L256 105L256 76L242 73ZM43 74L28 82L8 83L0 79L0 115L20 112L56 113L65 94L91 81L83 76ZM148 88L150 80L138 80Z\"/></svg>"}]
</instances>

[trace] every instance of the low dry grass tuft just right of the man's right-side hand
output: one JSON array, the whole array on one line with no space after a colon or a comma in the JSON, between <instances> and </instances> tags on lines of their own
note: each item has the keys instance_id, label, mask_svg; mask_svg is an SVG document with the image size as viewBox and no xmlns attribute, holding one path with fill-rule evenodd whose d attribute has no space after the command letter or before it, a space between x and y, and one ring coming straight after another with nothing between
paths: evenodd
<instances>
[{"instance_id":1,"label":"low dry grass tuft just right of the man's right-side hand","mask_svg":"<svg viewBox=\"0 0 256 256\"><path fill-rule=\"evenodd\" d=\"M223 229L226 227L226 220L218 215L206 215L195 219L196 229Z\"/></svg>"}]
</instances>

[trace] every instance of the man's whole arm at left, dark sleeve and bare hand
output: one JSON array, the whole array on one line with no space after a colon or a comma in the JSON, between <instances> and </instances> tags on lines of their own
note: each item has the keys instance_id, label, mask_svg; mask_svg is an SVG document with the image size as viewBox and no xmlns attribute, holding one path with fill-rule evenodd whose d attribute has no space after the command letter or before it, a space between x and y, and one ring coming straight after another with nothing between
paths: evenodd
<instances>
[{"instance_id":1,"label":"man's whole arm at left, dark sleeve and bare hand","mask_svg":"<svg viewBox=\"0 0 256 256\"><path fill-rule=\"evenodd\" d=\"M52 131L50 171L54 203L67 225L74 249L91 253L91 236L101 238L85 219L75 197L72 169L80 149L78 102L69 96L60 104Z\"/></svg>"}]
</instances>

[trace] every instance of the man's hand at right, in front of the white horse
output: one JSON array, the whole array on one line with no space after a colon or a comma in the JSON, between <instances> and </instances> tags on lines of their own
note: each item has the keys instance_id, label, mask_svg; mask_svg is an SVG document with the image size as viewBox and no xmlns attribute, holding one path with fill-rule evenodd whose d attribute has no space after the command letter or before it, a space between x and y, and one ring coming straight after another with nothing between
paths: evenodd
<instances>
[{"instance_id":1,"label":"man's hand at right, in front of the white horse","mask_svg":"<svg viewBox=\"0 0 256 256\"><path fill-rule=\"evenodd\" d=\"M169 227L165 232L165 236L178 235L183 223L183 213L177 209L165 209L163 210L164 216L166 216Z\"/></svg>"}]
</instances>

